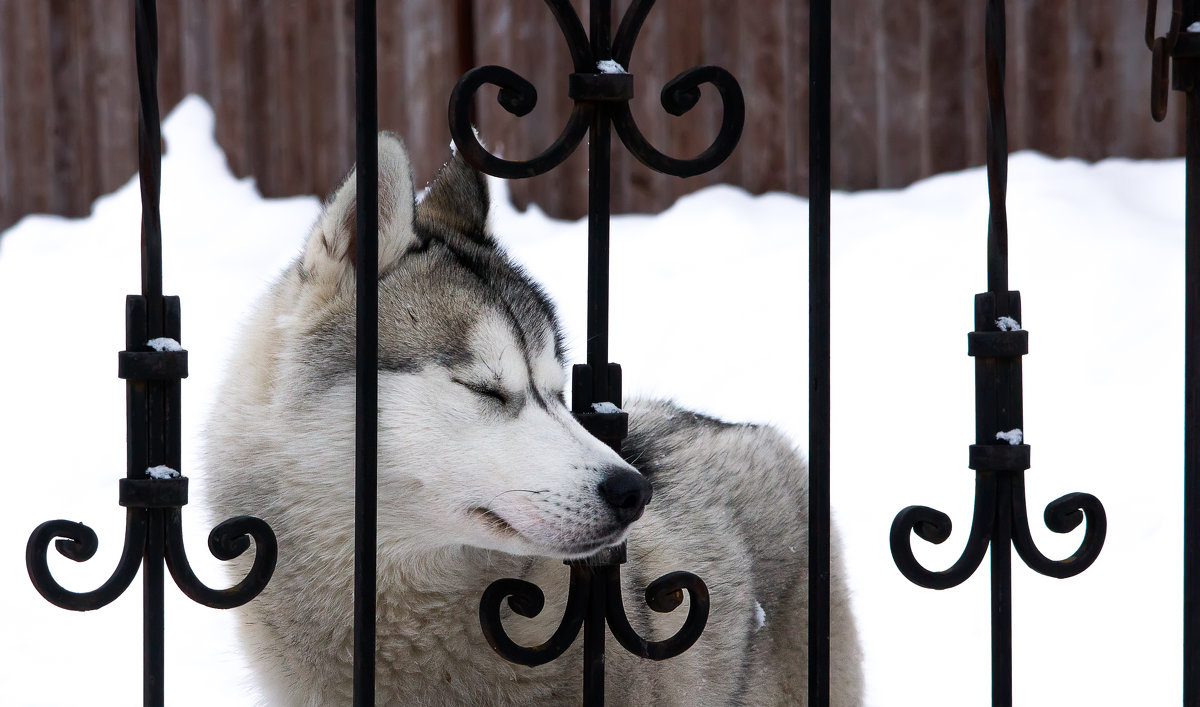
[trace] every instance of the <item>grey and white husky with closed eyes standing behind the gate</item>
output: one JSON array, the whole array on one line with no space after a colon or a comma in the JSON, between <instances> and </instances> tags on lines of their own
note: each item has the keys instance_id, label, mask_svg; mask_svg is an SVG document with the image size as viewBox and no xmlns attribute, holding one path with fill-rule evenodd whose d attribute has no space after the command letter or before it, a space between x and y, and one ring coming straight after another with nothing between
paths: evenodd
<instances>
[{"instance_id":1,"label":"grey and white husky with closed eyes standing behind the gate","mask_svg":"<svg viewBox=\"0 0 1200 707\"><path fill-rule=\"evenodd\" d=\"M540 643L563 616L563 561L628 539L638 633L665 639L688 612L646 606L668 571L700 575L712 604L670 660L610 637L608 703L805 705L804 462L770 427L667 402L628 406L624 459L588 435L564 403L554 310L487 211L484 178L458 156L415 203L403 146L380 136L378 703L578 705L582 637L514 665L485 641L479 600L502 577L541 587L539 616L505 617L514 640ZM208 429L214 511L260 516L278 538L274 579L240 610L271 705L352 695L354 254L352 173L258 304ZM838 547L832 693L847 707L863 681Z\"/></svg>"}]
</instances>

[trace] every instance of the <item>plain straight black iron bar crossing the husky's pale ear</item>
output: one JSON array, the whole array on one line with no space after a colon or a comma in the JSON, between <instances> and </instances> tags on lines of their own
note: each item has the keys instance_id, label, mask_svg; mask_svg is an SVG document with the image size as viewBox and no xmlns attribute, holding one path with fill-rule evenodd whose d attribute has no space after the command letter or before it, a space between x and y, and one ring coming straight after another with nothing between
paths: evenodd
<instances>
[{"instance_id":1,"label":"plain straight black iron bar crossing the husky's pale ear","mask_svg":"<svg viewBox=\"0 0 1200 707\"><path fill-rule=\"evenodd\" d=\"M354 4L358 230L354 424L354 705L374 705L379 155L376 4Z\"/></svg>"}]
</instances>

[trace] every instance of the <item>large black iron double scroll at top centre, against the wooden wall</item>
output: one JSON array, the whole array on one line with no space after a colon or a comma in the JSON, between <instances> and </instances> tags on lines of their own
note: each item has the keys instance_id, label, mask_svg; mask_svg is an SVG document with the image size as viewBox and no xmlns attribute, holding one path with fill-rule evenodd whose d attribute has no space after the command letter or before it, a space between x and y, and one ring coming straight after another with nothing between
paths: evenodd
<instances>
[{"instance_id":1,"label":"large black iron double scroll at top centre, against the wooden wall","mask_svg":"<svg viewBox=\"0 0 1200 707\"><path fill-rule=\"evenodd\" d=\"M628 78L600 72L596 62L606 56L598 56L593 52L583 24L570 2L546 0L546 5L563 30L576 74L593 74L601 77L600 80L612 83ZM634 42L653 6L654 0L635 1L625 12L617 30L611 54L612 59L626 70L632 56ZM698 102L702 84L715 86L720 94L724 106L721 127L713 143L695 157L670 157L650 145L630 112L629 98L632 97L630 91L618 97L574 96L575 108L562 133L548 148L530 160L504 160L487 151L470 124L472 103L475 94L485 84L499 88L497 101L500 107L518 118L527 115L538 104L538 91L533 84L514 71L502 66L481 66L464 73L450 94L450 134L455 144L475 168L505 179L535 176L560 164L578 146L598 110L611 114L617 134L638 161L650 169L674 176L695 176L719 166L733 152L745 125L745 100L738 82L724 68L700 66L689 68L667 82L660 97L662 107L668 113L683 115Z\"/></svg>"}]
</instances>

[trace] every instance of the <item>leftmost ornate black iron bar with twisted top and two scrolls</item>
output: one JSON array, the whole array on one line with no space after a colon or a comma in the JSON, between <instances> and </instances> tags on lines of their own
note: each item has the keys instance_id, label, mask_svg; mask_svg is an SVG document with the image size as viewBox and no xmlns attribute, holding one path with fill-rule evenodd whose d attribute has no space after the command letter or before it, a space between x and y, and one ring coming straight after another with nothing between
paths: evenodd
<instances>
[{"instance_id":1,"label":"leftmost ornate black iron bar with twisted top and two scrolls","mask_svg":"<svg viewBox=\"0 0 1200 707\"><path fill-rule=\"evenodd\" d=\"M278 558L270 526L256 517L236 516L209 533L209 550L222 561L234 559L254 543L254 561L246 576L226 589L208 587L187 562L182 538L182 507L187 477L150 478L152 467L181 468L180 382L187 377L187 350L181 340L180 300L162 294L162 128L158 118L158 19L154 0L133 8L138 79L138 178L142 187L142 294L125 300L126 350L118 354L118 376L126 382L126 478L119 503L126 509L125 541L116 569L90 592L71 592L50 573L50 543L74 562L91 559L100 541L95 531L66 520L37 526L25 545L25 567L37 592L50 604L71 611L92 611L121 595L144 568L143 689L145 703L163 701L162 567L192 600L212 609L233 609L257 597L268 585ZM155 340L174 347L154 346Z\"/></svg>"}]
</instances>

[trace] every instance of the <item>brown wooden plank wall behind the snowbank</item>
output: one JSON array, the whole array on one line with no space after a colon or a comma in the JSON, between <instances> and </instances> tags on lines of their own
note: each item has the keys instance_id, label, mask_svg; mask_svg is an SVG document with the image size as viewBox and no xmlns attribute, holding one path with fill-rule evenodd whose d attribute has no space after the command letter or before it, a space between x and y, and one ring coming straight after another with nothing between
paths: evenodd
<instances>
[{"instance_id":1,"label":"brown wooden plank wall behind the snowbank","mask_svg":"<svg viewBox=\"0 0 1200 707\"><path fill-rule=\"evenodd\" d=\"M616 2L618 12L628 0ZM1169 5L1169 4L1166 4ZM128 0L0 0L0 227L26 212L84 215L136 166L137 95ZM584 2L575 0L581 12ZM324 194L354 146L353 0L163 0L163 114L199 94L238 175L268 196ZM984 158L983 0L834 2L834 186L898 187ZM1014 150L1055 156L1182 154L1180 96L1150 120L1150 53L1136 0L1009 0L1008 120ZM516 119L486 91L486 143L530 157L569 112L560 32L540 0L379 2L380 125L404 137L419 181L448 155L446 101L476 64L530 79L539 106ZM613 208L655 211L713 182L752 192L808 187L808 2L661 0L629 67L634 113L659 149L691 156L720 121L715 91L682 118L661 85L700 64L746 95L742 144L716 172L653 174L623 149ZM169 149L169 145L168 145ZM586 211L586 150L514 185L518 204Z\"/></svg>"}]
</instances>

